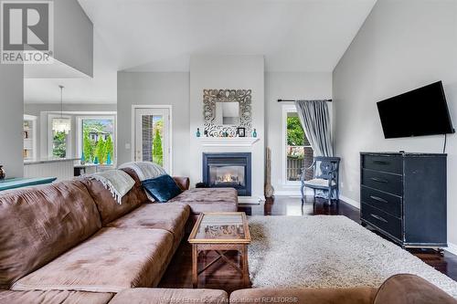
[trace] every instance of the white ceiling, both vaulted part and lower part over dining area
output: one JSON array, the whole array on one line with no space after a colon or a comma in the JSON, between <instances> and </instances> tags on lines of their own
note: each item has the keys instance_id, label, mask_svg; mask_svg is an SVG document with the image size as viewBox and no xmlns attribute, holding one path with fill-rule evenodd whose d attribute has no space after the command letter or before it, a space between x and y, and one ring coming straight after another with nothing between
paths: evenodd
<instances>
[{"instance_id":1,"label":"white ceiling, both vaulted part and lower part over dining area","mask_svg":"<svg viewBox=\"0 0 457 304\"><path fill-rule=\"evenodd\" d=\"M264 55L267 71L331 72L376 0L79 0L94 79L26 79L27 102L116 101L116 72L188 71L192 54ZM66 84L65 82L68 81ZM45 91L55 86L55 98Z\"/></svg>"}]
</instances>

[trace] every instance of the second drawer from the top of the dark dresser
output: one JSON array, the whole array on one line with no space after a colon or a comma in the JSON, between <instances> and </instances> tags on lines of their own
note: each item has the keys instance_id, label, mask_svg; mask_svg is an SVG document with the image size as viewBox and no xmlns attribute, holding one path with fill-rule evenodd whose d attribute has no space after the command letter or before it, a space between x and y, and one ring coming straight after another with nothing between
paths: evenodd
<instances>
[{"instance_id":1,"label":"second drawer from the top of the dark dresser","mask_svg":"<svg viewBox=\"0 0 457 304\"><path fill-rule=\"evenodd\" d=\"M403 180L401 175L362 170L362 184L367 187L401 196Z\"/></svg>"}]
</instances>

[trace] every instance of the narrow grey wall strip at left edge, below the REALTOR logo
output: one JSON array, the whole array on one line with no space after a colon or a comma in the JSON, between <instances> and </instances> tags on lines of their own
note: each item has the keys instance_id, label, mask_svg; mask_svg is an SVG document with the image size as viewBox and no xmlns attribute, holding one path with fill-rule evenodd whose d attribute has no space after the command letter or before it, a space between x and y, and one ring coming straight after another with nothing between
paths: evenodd
<instances>
[{"instance_id":1,"label":"narrow grey wall strip at left edge, below the REALTOR logo","mask_svg":"<svg viewBox=\"0 0 457 304\"><path fill-rule=\"evenodd\" d=\"M0 164L7 177L22 177L24 68L0 64Z\"/></svg>"}]
</instances>

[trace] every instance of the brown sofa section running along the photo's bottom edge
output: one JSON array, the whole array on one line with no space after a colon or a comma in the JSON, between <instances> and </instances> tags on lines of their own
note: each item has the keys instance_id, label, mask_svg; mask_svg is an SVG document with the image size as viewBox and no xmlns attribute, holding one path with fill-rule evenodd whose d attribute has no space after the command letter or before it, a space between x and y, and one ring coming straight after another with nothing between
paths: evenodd
<instances>
[{"instance_id":1,"label":"brown sofa section running along the photo's bottom edge","mask_svg":"<svg viewBox=\"0 0 457 304\"><path fill-rule=\"evenodd\" d=\"M396 275L380 288L253 288L231 293L214 289L127 288L119 293L70 290L0 290L8 304L455 304L457 301L423 278Z\"/></svg>"}]
</instances>

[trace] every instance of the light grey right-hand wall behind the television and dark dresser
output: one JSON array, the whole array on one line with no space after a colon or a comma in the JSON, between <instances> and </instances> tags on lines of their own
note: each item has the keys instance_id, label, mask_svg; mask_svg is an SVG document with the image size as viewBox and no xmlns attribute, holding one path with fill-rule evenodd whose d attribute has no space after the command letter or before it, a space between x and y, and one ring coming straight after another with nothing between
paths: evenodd
<instances>
[{"instance_id":1,"label":"light grey right-hand wall behind the television and dark dresser","mask_svg":"<svg viewBox=\"0 0 457 304\"><path fill-rule=\"evenodd\" d=\"M457 123L457 2L378 0L334 71L341 190L359 206L359 152L442 152L443 136L385 140L376 102L442 80ZM457 138L448 136L448 239L457 244ZM424 189L427 191L427 189ZM345 199L345 198L344 198Z\"/></svg>"}]
</instances>

